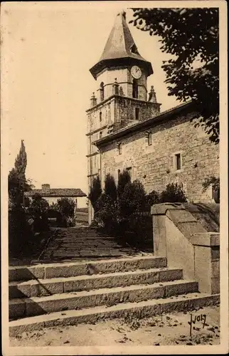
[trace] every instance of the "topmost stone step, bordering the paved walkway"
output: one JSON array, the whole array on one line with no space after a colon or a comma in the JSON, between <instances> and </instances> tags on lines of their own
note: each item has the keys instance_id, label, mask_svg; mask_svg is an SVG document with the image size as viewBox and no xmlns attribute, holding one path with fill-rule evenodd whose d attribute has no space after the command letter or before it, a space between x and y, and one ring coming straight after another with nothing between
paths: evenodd
<instances>
[{"instance_id":1,"label":"topmost stone step, bordering the paved walkway","mask_svg":"<svg viewBox=\"0 0 229 356\"><path fill-rule=\"evenodd\" d=\"M132 256L102 261L80 261L72 263L48 263L38 266L9 267L9 281L30 281L37 278L74 277L86 274L131 271L140 268L166 267L166 258L154 256Z\"/></svg>"}]
</instances>

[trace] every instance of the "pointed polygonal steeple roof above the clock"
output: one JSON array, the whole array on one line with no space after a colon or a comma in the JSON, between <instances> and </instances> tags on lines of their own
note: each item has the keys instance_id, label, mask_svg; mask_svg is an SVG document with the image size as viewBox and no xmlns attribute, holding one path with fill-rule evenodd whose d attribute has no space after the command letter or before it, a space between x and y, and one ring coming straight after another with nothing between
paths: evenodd
<instances>
[{"instance_id":1,"label":"pointed polygonal steeple roof above the clock","mask_svg":"<svg viewBox=\"0 0 229 356\"><path fill-rule=\"evenodd\" d=\"M127 26L126 13L122 11L117 14L114 26L107 39L107 43L102 52L100 60L90 69L92 75L96 78L97 73L112 63L137 63L141 62L148 70L148 75L153 73L151 63L140 56L137 46L134 43L129 27Z\"/></svg>"}]
</instances>

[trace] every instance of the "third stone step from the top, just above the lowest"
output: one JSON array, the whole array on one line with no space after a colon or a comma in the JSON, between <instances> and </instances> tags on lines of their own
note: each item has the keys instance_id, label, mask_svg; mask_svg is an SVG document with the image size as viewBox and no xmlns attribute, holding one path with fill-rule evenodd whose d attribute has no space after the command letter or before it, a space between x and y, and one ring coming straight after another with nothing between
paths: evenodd
<instances>
[{"instance_id":1,"label":"third stone step from the top, just above the lowest","mask_svg":"<svg viewBox=\"0 0 229 356\"><path fill-rule=\"evenodd\" d=\"M16 298L9 300L9 317L11 319L25 318L62 310L92 308L99 305L111 306L118 303L140 302L154 298L168 298L171 295L191 292L198 292L198 283L181 280L145 286L102 288L48 295L46 297Z\"/></svg>"}]
</instances>

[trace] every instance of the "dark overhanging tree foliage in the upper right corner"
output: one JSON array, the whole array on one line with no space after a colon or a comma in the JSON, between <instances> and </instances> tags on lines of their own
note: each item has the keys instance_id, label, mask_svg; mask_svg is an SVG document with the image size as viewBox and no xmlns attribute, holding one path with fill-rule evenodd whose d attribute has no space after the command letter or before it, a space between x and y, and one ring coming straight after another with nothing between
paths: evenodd
<instances>
[{"instance_id":1,"label":"dark overhanging tree foliage in the upper right corner","mask_svg":"<svg viewBox=\"0 0 229 356\"><path fill-rule=\"evenodd\" d=\"M130 21L150 35L160 36L169 95L191 98L209 139L219 142L219 27L218 9L132 9Z\"/></svg>"}]
</instances>

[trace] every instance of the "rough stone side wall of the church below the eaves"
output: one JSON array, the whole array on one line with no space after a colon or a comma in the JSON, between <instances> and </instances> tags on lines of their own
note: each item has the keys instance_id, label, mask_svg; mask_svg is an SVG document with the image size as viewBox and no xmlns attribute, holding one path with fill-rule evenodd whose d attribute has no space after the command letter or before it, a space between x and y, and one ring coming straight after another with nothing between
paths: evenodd
<instances>
[{"instance_id":1,"label":"rough stone side wall of the church below the eaves","mask_svg":"<svg viewBox=\"0 0 229 356\"><path fill-rule=\"evenodd\" d=\"M117 140L102 147L102 177L110 172L117 178L118 169L132 167L132 178L139 179L147 192L161 192L166 184L178 182L189 201L213 201L211 189L203 193L205 177L219 177L219 148L201 128L194 127L194 112L176 115L166 122L151 124L151 145L144 129L118 139L122 142L122 155ZM174 164L176 154L181 155L181 169Z\"/></svg>"}]
</instances>

